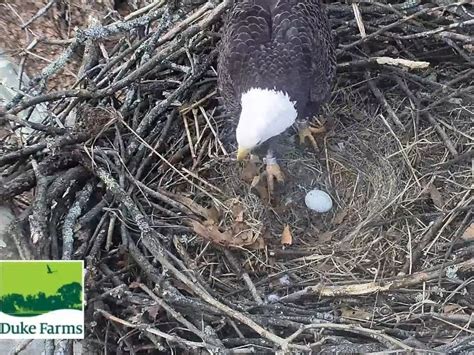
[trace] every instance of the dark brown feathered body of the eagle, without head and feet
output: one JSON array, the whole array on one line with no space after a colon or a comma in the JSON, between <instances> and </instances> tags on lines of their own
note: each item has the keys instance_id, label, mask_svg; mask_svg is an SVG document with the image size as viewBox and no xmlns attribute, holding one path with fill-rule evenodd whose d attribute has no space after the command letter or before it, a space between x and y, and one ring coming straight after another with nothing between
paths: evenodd
<instances>
[{"instance_id":1,"label":"dark brown feathered body of the eagle, without head and feet","mask_svg":"<svg viewBox=\"0 0 474 355\"><path fill-rule=\"evenodd\" d=\"M330 95L336 60L319 0L240 0L222 29L218 85L238 115L252 87L276 88L296 101L298 118L319 112Z\"/></svg>"}]
</instances>

